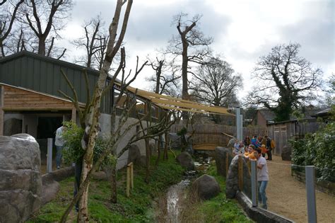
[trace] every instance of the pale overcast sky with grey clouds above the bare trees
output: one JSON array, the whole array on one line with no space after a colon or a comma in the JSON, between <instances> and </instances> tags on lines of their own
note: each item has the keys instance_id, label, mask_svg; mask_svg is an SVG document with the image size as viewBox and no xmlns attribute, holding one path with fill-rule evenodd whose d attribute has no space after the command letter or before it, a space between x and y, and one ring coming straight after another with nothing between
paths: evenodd
<instances>
[{"instance_id":1,"label":"pale overcast sky with grey clouds above the bare trees","mask_svg":"<svg viewBox=\"0 0 335 223\"><path fill-rule=\"evenodd\" d=\"M325 76L335 73L335 8L333 0L134 0L129 18L126 44L127 64L134 64L136 55L154 58L155 50L167 45L177 28L171 25L177 13L189 16L201 14L199 28L213 37L212 48L242 74L244 90L253 86L250 74L257 59L271 52L278 44L298 42L300 56L324 70ZM77 0L71 22L63 37L71 40L82 34L81 24L101 13L106 25L112 21L115 1ZM69 49L69 55L76 54ZM130 67L129 67L130 68ZM133 66L134 69L134 66ZM148 89L144 76L152 74L146 69L133 86ZM240 97L241 97L240 96Z\"/></svg>"}]
</instances>

